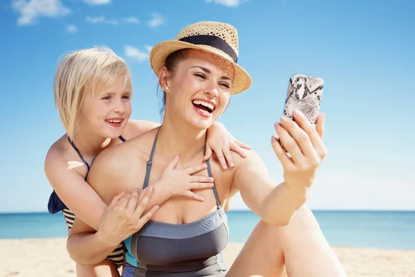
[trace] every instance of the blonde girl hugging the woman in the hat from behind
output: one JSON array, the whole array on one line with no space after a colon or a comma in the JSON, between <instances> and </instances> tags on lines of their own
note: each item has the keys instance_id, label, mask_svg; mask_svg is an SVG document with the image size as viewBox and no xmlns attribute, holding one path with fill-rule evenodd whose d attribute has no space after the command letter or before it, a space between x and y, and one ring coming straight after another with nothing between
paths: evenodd
<instances>
[{"instance_id":1,"label":"blonde girl hugging the woman in the hat from behind","mask_svg":"<svg viewBox=\"0 0 415 277\"><path fill-rule=\"evenodd\" d=\"M90 48L66 55L57 68L54 94L67 134L53 143L46 155L45 172L54 189L48 209L50 213L62 211L68 233L75 215L98 229L107 205L85 181L93 159L105 148L132 139L158 124L129 120L131 75L127 64L108 48ZM233 163L229 148L241 155L238 144L246 148L234 141L220 124L210 129L210 143L217 156L223 161L226 157L229 163ZM163 178L158 180L167 194L154 195L154 204L178 195L203 201L203 197L192 193L191 189L212 187L212 179L192 176L205 166L176 170L177 162L178 159L174 159L164 170ZM171 186L172 180L175 187ZM111 272L119 276L116 267L124 263L122 245L110 253L109 260L111 262L107 260L93 266L77 265L77 276L107 276Z\"/></svg>"}]
</instances>

